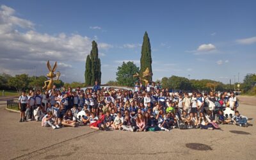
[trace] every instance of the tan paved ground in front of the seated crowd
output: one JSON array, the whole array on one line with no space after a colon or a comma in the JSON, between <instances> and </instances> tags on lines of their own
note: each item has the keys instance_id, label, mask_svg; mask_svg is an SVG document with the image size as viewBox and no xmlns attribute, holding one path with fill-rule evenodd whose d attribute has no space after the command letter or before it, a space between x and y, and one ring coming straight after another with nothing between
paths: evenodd
<instances>
[{"instance_id":1,"label":"tan paved ground in front of the seated crowd","mask_svg":"<svg viewBox=\"0 0 256 160\"><path fill-rule=\"evenodd\" d=\"M40 122L19 123L19 113L0 105L0 159L255 159L256 105L240 104L252 127L170 132L96 131L89 127L53 130ZM235 133L236 131L240 134ZM242 134L241 134L242 133ZM189 143L201 143L198 146ZM197 148L195 150L193 148Z\"/></svg>"}]
</instances>

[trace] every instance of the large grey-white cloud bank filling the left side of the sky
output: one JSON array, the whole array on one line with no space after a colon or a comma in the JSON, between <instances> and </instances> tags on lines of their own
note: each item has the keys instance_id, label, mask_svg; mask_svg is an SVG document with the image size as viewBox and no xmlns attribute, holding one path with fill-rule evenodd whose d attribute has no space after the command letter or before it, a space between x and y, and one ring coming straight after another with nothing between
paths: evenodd
<instances>
[{"instance_id":1,"label":"large grey-white cloud bank filling the left side of the sky","mask_svg":"<svg viewBox=\"0 0 256 160\"><path fill-rule=\"evenodd\" d=\"M35 24L30 20L20 19L15 10L8 6L0 7L0 72L7 74L27 73L33 75L34 67L38 75L47 72L46 61L58 61L61 74L74 77L72 64L83 63L92 49L92 38L79 34L49 35L35 31ZM19 29L22 28L20 31ZM98 43L99 50L106 50L112 45ZM104 56L100 53L100 56ZM68 62L68 63L67 63ZM13 65L15 64L15 65ZM22 69L20 69L22 68ZM75 67L74 67L75 68ZM82 71L83 72L83 71ZM79 73L77 74L78 76ZM83 75L77 79L83 79Z\"/></svg>"}]
</instances>

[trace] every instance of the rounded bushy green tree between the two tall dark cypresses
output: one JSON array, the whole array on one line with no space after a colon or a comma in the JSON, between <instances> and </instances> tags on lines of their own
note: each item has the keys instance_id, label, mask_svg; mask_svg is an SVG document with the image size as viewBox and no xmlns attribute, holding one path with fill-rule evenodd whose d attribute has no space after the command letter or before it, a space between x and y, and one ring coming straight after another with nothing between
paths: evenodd
<instances>
[{"instance_id":1,"label":"rounded bushy green tree between the two tall dark cypresses","mask_svg":"<svg viewBox=\"0 0 256 160\"><path fill-rule=\"evenodd\" d=\"M134 86L137 78L133 77L136 72L139 72L139 67L133 61L123 62L122 66L117 68L116 81L122 86Z\"/></svg>"}]
</instances>

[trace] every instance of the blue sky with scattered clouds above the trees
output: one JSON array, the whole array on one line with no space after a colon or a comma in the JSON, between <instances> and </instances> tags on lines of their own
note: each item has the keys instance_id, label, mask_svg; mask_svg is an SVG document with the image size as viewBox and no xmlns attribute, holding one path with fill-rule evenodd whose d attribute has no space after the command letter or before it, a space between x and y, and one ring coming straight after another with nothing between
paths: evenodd
<instances>
[{"instance_id":1,"label":"blue sky with scattered clouds above the trees","mask_svg":"<svg viewBox=\"0 0 256 160\"><path fill-rule=\"evenodd\" d=\"M184 76L228 83L256 68L256 1L1 1L0 72L84 82L96 40L102 83L122 61L140 66L148 32L153 79ZM35 72L36 67L36 72Z\"/></svg>"}]
</instances>

